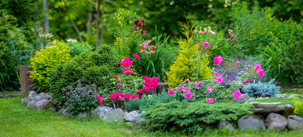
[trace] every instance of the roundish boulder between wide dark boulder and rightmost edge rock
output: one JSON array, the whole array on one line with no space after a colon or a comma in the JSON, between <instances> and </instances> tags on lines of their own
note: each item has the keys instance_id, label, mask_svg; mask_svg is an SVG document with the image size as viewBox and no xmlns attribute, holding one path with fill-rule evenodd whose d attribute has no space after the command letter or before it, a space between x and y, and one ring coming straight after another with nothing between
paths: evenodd
<instances>
[{"instance_id":1,"label":"roundish boulder between wide dark boulder and rightmost edge rock","mask_svg":"<svg viewBox=\"0 0 303 137\"><path fill-rule=\"evenodd\" d=\"M287 126L287 119L276 113L270 113L266 117L267 129L274 131L284 131Z\"/></svg>"}]
</instances>

